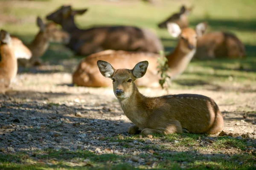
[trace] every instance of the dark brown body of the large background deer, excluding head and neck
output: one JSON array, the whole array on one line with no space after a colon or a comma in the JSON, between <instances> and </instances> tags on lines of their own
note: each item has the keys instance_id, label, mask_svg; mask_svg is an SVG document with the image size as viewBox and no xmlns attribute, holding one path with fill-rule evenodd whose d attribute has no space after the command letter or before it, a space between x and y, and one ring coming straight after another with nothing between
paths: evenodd
<instances>
[{"instance_id":1,"label":"dark brown body of the large background deer, excluding head and neck","mask_svg":"<svg viewBox=\"0 0 256 170\"><path fill-rule=\"evenodd\" d=\"M155 34L132 26L106 26L78 30L71 34L71 40L67 46L76 54L85 56L107 49L153 53L163 50L163 45Z\"/></svg>"}]
</instances>

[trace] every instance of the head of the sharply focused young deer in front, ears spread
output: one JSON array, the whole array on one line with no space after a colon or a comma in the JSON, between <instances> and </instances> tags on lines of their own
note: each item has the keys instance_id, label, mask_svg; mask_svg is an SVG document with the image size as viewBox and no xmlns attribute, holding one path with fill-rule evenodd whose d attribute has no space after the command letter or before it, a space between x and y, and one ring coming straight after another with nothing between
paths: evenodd
<instances>
[{"instance_id":1,"label":"head of the sharply focused young deer in front, ears spread","mask_svg":"<svg viewBox=\"0 0 256 170\"><path fill-rule=\"evenodd\" d=\"M148 68L148 61L137 63L132 70L114 69L108 62L97 61L100 73L113 81L113 91L118 99L125 99L131 96L134 91L134 81L145 75Z\"/></svg>"}]
</instances>

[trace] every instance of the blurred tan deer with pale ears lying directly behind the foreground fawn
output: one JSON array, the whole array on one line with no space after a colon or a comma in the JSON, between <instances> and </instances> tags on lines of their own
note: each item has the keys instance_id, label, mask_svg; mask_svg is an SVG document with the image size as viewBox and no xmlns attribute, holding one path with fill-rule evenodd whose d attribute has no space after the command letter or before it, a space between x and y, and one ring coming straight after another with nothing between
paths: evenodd
<instances>
[{"instance_id":1,"label":"blurred tan deer with pale ears lying directly behind the foreground fawn","mask_svg":"<svg viewBox=\"0 0 256 170\"><path fill-rule=\"evenodd\" d=\"M166 55L170 71L168 75L171 80L176 79L183 71L195 54L197 37L204 34L207 27L206 23L199 23L196 30L192 28L183 28L176 23L168 23L168 31L172 37L178 38L177 46L174 51ZM97 60L111 62L115 68L132 68L137 62L147 60L147 74L138 79L135 83L140 87L159 88L160 75L158 74L157 58L159 54L145 52L130 52L130 51L103 51L92 54L81 60L76 71L73 73L73 84L87 87L109 87L111 83L106 78L99 78L100 73L96 65Z\"/></svg>"}]
</instances>

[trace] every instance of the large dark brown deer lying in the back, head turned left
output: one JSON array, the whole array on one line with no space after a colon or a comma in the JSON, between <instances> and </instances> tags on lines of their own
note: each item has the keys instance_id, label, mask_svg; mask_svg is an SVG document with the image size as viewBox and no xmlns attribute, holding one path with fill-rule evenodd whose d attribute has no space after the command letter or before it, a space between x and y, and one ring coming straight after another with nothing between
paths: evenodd
<instances>
[{"instance_id":1,"label":"large dark brown deer lying in the back, head turned left","mask_svg":"<svg viewBox=\"0 0 256 170\"><path fill-rule=\"evenodd\" d=\"M61 6L46 17L47 20L60 24L71 35L67 47L77 55L87 56L107 49L152 53L163 50L160 39L148 29L134 26L78 28L74 17L86 11L87 8L73 10L71 6Z\"/></svg>"}]
</instances>

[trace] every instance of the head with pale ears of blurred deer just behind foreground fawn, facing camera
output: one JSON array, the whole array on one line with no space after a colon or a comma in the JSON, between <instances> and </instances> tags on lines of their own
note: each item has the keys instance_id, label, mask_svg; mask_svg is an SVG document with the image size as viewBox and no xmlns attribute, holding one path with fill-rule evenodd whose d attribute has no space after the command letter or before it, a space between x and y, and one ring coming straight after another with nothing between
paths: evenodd
<instances>
[{"instance_id":1,"label":"head with pale ears of blurred deer just behind foreground fawn, facing camera","mask_svg":"<svg viewBox=\"0 0 256 170\"><path fill-rule=\"evenodd\" d=\"M167 23L169 34L171 34L172 37L179 39L179 47L184 53L188 53L196 48L197 37L204 34L206 28L207 23L199 23L195 30L192 28L180 29L176 23Z\"/></svg>"}]
</instances>

